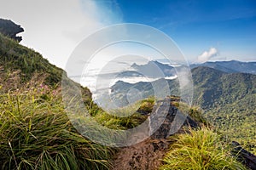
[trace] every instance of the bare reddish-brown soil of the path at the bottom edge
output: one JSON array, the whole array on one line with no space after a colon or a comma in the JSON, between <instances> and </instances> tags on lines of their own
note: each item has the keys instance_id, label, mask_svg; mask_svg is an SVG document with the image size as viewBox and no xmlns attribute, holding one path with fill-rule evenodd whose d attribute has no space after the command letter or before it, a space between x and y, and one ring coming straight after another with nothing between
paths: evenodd
<instances>
[{"instance_id":1,"label":"bare reddish-brown soil of the path at the bottom edge","mask_svg":"<svg viewBox=\"0 0 256 170\"><path fill-rule=\"evenodd\" d=\"M119 150L113 161L113 170L154 170L160 167L170 139L146 139Z\"/></svg>"}]
</instances>

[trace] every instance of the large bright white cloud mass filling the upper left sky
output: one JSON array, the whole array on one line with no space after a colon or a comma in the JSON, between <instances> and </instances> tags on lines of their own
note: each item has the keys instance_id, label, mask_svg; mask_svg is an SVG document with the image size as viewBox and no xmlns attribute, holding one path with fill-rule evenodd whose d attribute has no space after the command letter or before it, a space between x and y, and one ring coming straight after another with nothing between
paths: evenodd
<instances>
[{"instance_id":1,"label":"large bright white cloud mass filling the upper left sky","mask_svg":"<svg viewBox=\"0 0 256 170\"><path fill-rule=\"evenodd\" d=\"M109 8L111 5L119 8L115 3ZM0 18L13 20L25 29L21 44L64 68L84 37L117 22L106 17L109 8L92 0L0 0Z\"/></svg>"}]
</instances>

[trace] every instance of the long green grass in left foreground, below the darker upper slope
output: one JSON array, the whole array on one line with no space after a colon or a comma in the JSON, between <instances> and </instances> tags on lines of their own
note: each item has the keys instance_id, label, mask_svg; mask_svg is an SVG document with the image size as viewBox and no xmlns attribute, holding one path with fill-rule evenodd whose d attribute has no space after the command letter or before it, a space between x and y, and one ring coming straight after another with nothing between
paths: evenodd
<instances>
[{"instance_id":1,"label":"long green grass in left foreground, below the darker upper slope","mask_svg":"<svg viewBox=\"0 0 256 170\"><path fill-rule=\"evenodd\" d=\"M60 89L32 82L3 91L0 88L2 169L109 168L113 150L77 133L64 111Z\"/></svg>"}]
</instances>

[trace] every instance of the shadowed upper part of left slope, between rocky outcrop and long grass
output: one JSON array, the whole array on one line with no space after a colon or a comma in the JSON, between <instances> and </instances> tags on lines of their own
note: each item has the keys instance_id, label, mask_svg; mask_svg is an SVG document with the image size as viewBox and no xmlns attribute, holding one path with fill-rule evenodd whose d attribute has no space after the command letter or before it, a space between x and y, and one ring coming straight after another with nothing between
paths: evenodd
<instances>
[{"instance_id":1,"label":"shadowed upper part of left slope, between rocky outcrop and long grass","mask_svg":"<svg viewBox=\"0 0 256 170\"><path fill-rule=\"evenodd\" d=\"M35 74L44 74L47 75L44 83L51 87L55 87L57 84L61 83L62 76L67 78L65 71L56 67L55 65L50 64L49 61L44 59L41 54L20 45L15 40L5 37L1 33L0 66L1 71L7 73L7 75L13 71L20 71L21 83L26 83L27 81L31 80L32 76ZM68 78L67 80L73 82ZM78 84L78 86L80 85ZM11 89L14 87L9 88ZM83 89L84 96L86 96L84 99L90 100L90 90L84 87L81 88Z\"/></svg>"}]
</instances>

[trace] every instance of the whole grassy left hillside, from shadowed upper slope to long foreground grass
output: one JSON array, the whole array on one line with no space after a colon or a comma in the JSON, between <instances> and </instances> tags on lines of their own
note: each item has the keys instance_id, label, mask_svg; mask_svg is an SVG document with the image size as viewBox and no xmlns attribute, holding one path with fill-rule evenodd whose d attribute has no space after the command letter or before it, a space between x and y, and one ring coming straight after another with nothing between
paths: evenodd
<instances>
[{"instance_id":1,"label":"whole grassy left hillside, from shadowed upper slope to long foreground grass","mask_svg":"<svg viewBox=\"0 0 256 170\"><path fill-rule=\"evenodd\" d=\"M69 121L59 88L60 68L0 34L0 69L1 168L110 167L113 149L85 139ZM88 102L90 91L82 89Z\"/></svg>"}]
</instances>

